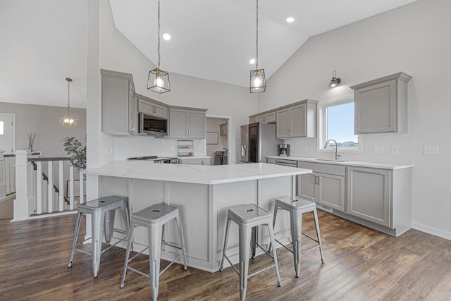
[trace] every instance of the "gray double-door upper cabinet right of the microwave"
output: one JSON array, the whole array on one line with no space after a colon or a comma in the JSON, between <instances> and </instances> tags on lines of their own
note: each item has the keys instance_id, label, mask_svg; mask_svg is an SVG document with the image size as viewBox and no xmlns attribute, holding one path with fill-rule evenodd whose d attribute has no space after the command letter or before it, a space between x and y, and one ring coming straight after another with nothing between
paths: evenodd
<instances>
[{"instance_id":1,"label":"gray double-door upper cabinet right of the microwave","mask_svg":"<svg viewBox=\"0 0 451 301\"><path fill-rule=\"evenodd\" d=\"M206 110L169 109L169 137L205 139Z\"/></svg>"}]
</instances>

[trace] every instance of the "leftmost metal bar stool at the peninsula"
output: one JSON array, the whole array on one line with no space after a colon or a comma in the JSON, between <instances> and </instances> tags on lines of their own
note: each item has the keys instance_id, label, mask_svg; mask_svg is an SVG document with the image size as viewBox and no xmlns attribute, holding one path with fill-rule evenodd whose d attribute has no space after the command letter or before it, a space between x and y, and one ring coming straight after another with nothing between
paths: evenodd
<instances>
[{"instance_id":1,"label":"leftmost metal bar stool at the peninsula","mask_svg":"<svg viewBox=\"0 0 451 301\"><path fill-rule=\"evenodd\" d=\"M125 231L113 228L114 226L114 211L121 209ZM82 215L91 214L92 219L92 237L77 242L78 233L80 231L80 223L82 221ZM68 268L72 267L73 255L75 251L82 252L92 256L92 273L94 278L97 278L99 274L100 255L109 250L114 245L117 245L122 240L127 238L124 236L119 239L113 245L110 245L111 238L113 237L113 231L126 235L128 233L128 198L127 197L101 197L92 201L80 204L78 206L77 221L75 221L75 233L73 235L72 251L70 252L70 259ZM102 232L105 233L105 241L109 247L101 250ZM83 242L92 239L92 252L77 249L78 245Z\"/></svg>"}]
</instances>

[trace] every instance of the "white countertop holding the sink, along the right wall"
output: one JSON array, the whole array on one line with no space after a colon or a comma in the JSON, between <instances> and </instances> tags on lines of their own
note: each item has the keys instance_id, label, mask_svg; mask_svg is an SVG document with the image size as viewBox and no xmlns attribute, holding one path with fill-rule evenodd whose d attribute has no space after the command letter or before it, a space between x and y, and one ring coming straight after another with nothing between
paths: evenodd
<instances>
[{"instance_id":1,"label":"white countertop holding the sink, along the right wall","mask_svg":"<svg viewBox=\"0 0 451 301\"><path fill-rule=\"evenodd\" d=\"M334 165L345 165L345 166L359 166L368 168L383 168L383 169L402 169L402 168L412 168L414 164L397 164L397 163L383 163L383 162L369 162L369 161L334 161L334 160L321 160L319 158L305 158L303 156L267 156L267 158L272 159L285 159L285 160L295 160L295 161L305 161L321 164L334 164Z\"/></svg>"}]
</instances>

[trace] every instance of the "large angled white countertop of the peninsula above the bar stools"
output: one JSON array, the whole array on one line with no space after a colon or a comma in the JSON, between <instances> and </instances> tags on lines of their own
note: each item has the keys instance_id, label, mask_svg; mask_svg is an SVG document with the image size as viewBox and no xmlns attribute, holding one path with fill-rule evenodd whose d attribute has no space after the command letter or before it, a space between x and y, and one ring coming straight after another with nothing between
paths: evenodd
<instances>
[{"instance_id":1,"label":"large angled white countertop of the peninsula above the bar stools","mask_svg":"<svg viewBox=\"0 0 451 301\"><path fill-rule=\"evenodd\" d=\"M99 168L88 168L86 173L99 176L162 180L194 184L222 184L278 178L311 173L310 169L266 163L231 165L154 164L151 161L112 161Z\"/></svg>"}]
</instances>

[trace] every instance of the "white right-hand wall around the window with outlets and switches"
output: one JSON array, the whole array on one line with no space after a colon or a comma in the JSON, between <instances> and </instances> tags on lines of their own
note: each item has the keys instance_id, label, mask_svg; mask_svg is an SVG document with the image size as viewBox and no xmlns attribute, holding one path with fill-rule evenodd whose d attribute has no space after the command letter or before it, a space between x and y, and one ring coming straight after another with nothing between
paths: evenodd
<instances>
[{"instance_id":1,"label":"white right-hand wall around the window with outlets and switches","mask_svg":"<svg viewBox=\"0 0 451 301\"><path fill-rule=\"evenodd\" d=\"M450 11L451 1L420 0L312 37L271 76L266 93L259 94L259 111L265 111L305 98L324 101L352 94L350 85L398 71L412 75L408 133L364 135L363 154L342 158L415 164L412 226L448 239ZM342 85L329 89L334 69ZM332 156L316 152L315 138L286 142L294 147L292 155ZM390 154L393 145L398 154ZM437 145L439 155L425 156L424 145ZM374 146L383 146L383 154L374 154Z\"/></svg>"}]
</instances>

